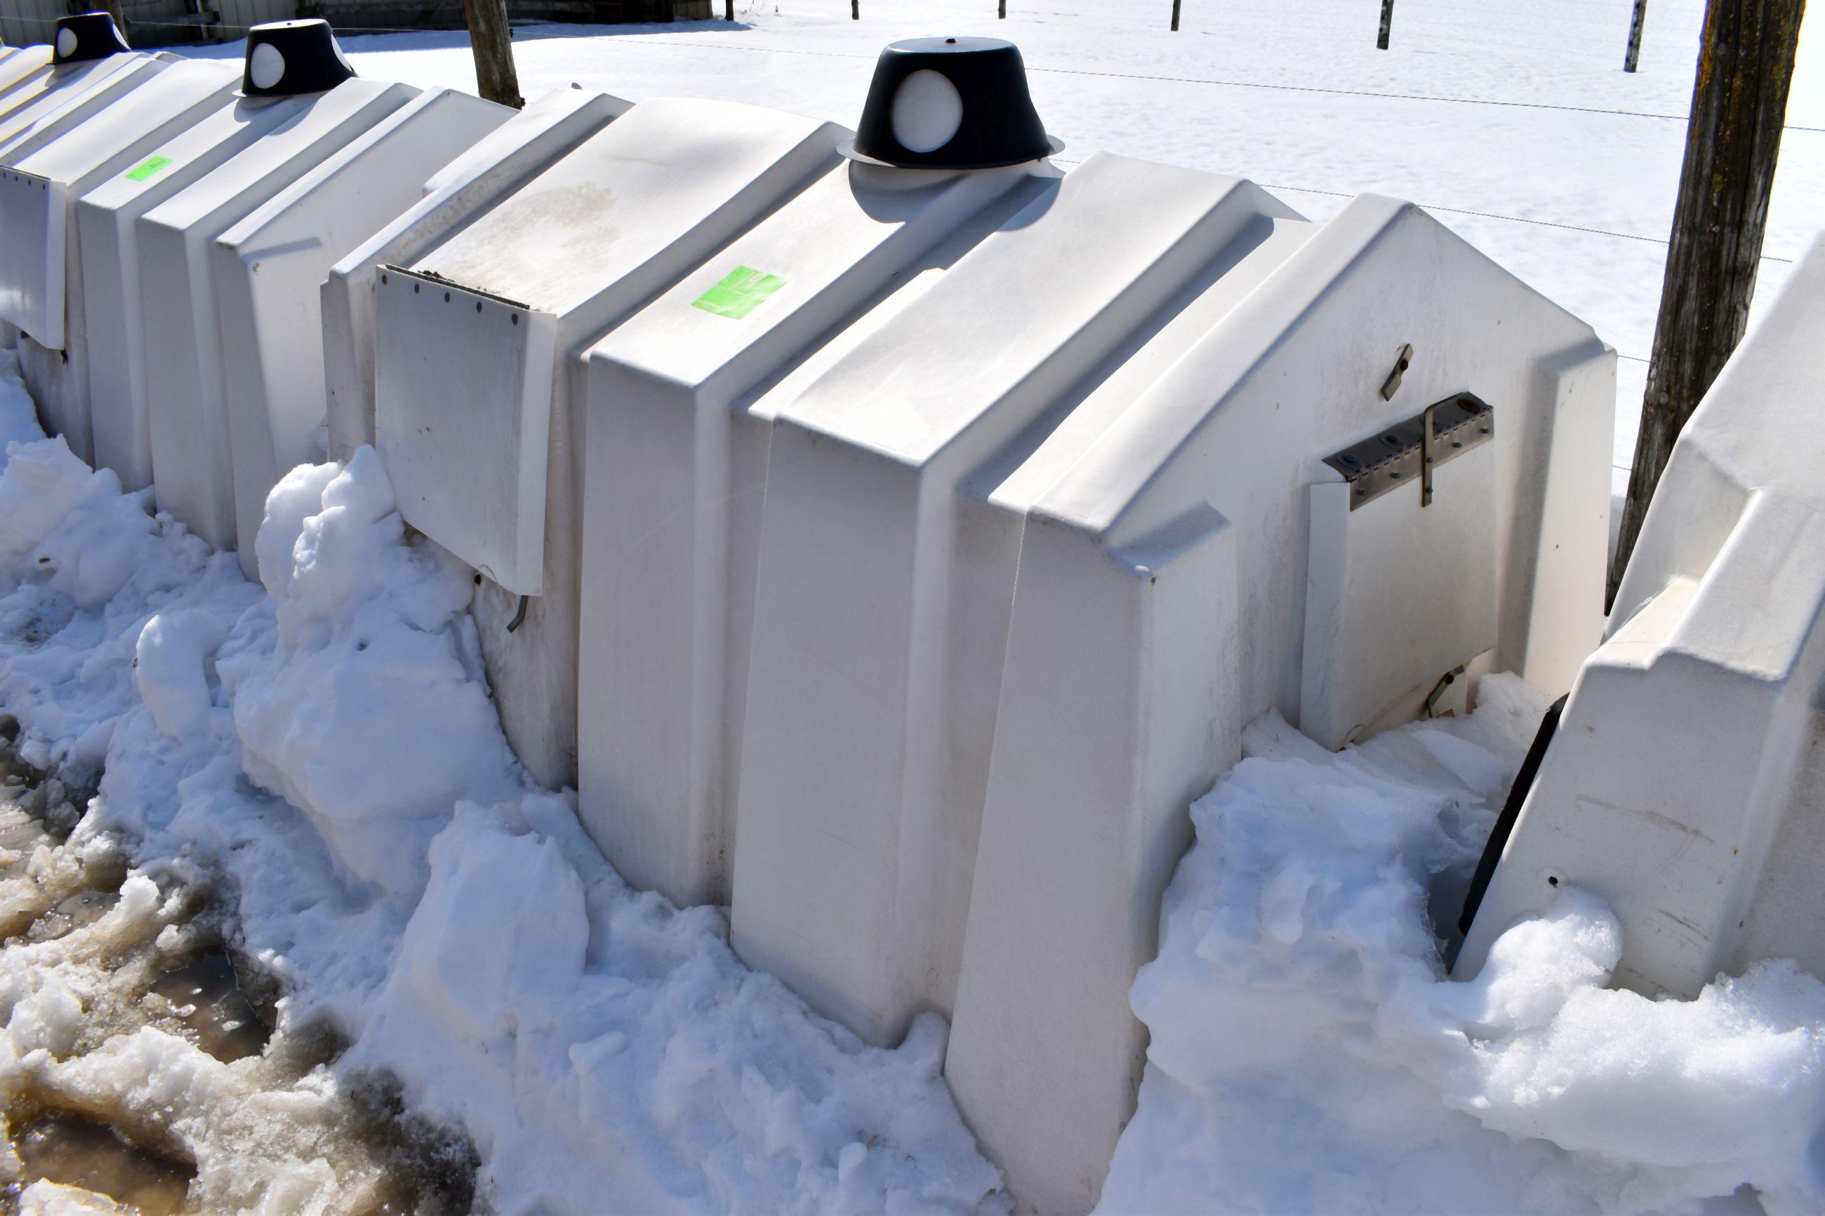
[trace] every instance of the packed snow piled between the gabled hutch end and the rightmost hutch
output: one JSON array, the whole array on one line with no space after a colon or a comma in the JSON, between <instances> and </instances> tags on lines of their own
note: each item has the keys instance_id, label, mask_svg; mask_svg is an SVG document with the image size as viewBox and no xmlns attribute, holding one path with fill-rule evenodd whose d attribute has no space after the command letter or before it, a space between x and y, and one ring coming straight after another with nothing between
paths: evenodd
<instances>
[{"instance_id":1,"label":"packed snow piled between the gabled hutch end and the rightmost hutch","mask_svg":"<svg viewBox=\"0 0 1825 1216\"><path fill-rule=\"evenodd\" d=\"M1343 753L1248 727L1135 981L1152 1045L1102 1211L1825 1209L1825 984L1792 963L1608 990L1615 917L1566 886L1445 977L1434 924L1544 709L1489 676L1469 718Z\"/></svg>"}]
</instances>

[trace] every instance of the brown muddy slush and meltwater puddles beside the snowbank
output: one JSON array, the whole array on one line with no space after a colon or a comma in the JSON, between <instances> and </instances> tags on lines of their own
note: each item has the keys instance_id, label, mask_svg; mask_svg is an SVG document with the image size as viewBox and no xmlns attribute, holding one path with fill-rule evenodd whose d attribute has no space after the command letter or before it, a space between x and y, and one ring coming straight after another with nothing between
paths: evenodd
<instances>
[{"instance_id":1,"label":"brown muddy slush and meltwater puddles beside the snowbank","mask_svg":"<svg viewBox=\"0 0 1825 1216\"><path fill-rule=\"evenodd\" d=\"M131 873L0 742L0 1212L467 1211L474 1150L274 1034L201 893Z\"/></svg>"}]
</instances>

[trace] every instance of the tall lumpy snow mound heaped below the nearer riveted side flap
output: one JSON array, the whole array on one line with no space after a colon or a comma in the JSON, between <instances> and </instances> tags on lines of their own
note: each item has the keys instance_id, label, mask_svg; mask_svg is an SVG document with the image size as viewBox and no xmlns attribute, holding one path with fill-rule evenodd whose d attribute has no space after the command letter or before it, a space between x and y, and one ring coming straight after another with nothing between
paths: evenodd
<instances>
[{"instance_id":1,"label":"tall lumpy snow mound heaped below the nearer riveted side flap","mask_svg":"<svg viewBox=\"0 0 1825 1216\"><path fill-rule=\"evenodd\" d=\"M456 799L520 789L474 662L469 574L405 545L372 448L287 474L257 543L272 627L246 622L219 660L246 777L305 811L349 873L414 895Z\"/></svg>"}]
</instances>

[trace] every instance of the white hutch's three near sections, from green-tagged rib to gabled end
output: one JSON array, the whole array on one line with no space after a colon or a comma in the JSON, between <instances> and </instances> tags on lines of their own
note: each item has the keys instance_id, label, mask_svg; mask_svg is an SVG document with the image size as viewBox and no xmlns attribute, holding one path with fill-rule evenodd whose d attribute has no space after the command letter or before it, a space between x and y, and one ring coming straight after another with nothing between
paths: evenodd
<instances>
[{"instance_id":1,"label":"white hutch's three near sections, from green-tagged rib to gabled end","mask_svg":"<svg viewBox=\"0 0 1825 1216\"><path fill-rule=\"evenodd\" d=\"M885 57L858 159L918 166L900 82L969 115L982 49ZM1595 645L1615 356L1409 204L944 168L825 175L591 352L582 811L639 882L732 877L737 950L865 1039L949 1014L1013 1192L1084 1211L1241 726Z\"/></svg>"}]
</instances>

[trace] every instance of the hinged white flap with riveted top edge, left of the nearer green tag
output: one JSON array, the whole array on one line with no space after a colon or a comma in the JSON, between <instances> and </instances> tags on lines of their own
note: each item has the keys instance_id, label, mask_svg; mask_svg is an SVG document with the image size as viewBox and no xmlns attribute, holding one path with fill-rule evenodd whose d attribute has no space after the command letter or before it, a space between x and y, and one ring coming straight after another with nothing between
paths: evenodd
<instances>
[{"instance_id":1,"label":"hinged white flap with riveted top edge, left of the nearer green tag","mask_svg":"<svg viewBox=\"0 0 1825 1216\"><path fill-rule=\"evenodd\" d=\"M376 323L400 514L509 593L538 594L557 317L389 266ZM392 394L396 379L414 392Z\"/></svg>"}]
</instances>

